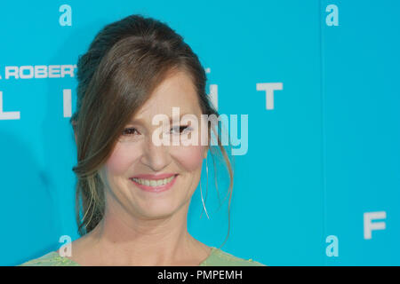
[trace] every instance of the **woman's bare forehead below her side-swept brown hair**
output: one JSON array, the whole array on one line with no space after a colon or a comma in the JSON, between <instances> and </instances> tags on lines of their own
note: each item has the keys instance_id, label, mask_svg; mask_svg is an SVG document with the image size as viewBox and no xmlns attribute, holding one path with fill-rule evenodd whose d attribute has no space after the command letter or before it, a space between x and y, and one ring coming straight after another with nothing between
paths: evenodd
<instances>
[{"instance_id":1,"label":"woman's bare forehead below her side-swept brown hair","mask_svg":"<svg viewBox=\"0 0 400 284\"><path fill-rule=\"evenodd\" d=\"M190 76L182 71L167 76L150 95L150 99L132 117L133 123L150 122L156 114L172 117L172 107L179 107L180 114L196 114L201 109L197 99L196 87Z\"/></svg>"}]
</instances>

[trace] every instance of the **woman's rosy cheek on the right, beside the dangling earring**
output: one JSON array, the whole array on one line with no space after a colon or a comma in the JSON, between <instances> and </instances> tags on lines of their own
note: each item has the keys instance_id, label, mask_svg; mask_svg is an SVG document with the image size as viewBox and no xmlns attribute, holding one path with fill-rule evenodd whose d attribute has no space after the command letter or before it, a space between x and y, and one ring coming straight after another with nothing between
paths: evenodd
<instances>
[{"instance_id":1,"label":"woman's rosy cheek on the right, beside the dangling earring","mask_svg":"<svg viewBox=\"0 0 400 284\"><path fill-rule=\"evenodd\" d=\"M188 171L194 171L202 166L204 159L204 146L182 146L176 149L174 157Z\"/></svg>"}]
</instances>

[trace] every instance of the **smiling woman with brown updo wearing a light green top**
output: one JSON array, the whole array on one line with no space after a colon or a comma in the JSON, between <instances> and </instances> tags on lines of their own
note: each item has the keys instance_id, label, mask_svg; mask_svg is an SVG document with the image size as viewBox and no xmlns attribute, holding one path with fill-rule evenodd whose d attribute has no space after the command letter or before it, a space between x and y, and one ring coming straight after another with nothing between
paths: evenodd
<instances>
[{"instance_id":1,"label":"smiling woman with brown updo wearing a light green top","mask_svg":"<svg viewBox=\"0 0 400 284\"><path fill-rule=\"evenodd\" d=\"M214 125L202 114L219 114L205 93L204 67L183 38L160 21L129 16L95 37L79 59L77 79L71 123L82 237L71 243L71 256L52 251L22 265L263 265L188 233L189 203L208 150L215 151ZM194 120L182 123L173 107ZM164 119L161 133L154 123L160 114L172 122ZM228 155L212 130L231 193ZM155 133L180 143L156 145ZM200 143L204 135L207 145Z\"/></svg>"}]
</instances>

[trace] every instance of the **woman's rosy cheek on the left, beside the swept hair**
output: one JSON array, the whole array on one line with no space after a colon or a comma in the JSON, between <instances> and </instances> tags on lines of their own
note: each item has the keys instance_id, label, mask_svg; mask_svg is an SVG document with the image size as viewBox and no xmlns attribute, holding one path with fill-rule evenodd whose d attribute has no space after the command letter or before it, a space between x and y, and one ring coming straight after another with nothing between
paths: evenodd
<instances>
[{"instance_id":1,"label":"woman's rosy cheek on the left, beside the swept hair","mask_svg":"<svg viewBox=\"0 0 400 284\"><path fill-rule=\"evenodd\" d=\"M133 153L138 153L138 151L132 151L132 149L126 149L126 146L117 145L106 162L108 173L113 176L123 176L132 161L136 159Z\"/></svg>"}]
</instances>

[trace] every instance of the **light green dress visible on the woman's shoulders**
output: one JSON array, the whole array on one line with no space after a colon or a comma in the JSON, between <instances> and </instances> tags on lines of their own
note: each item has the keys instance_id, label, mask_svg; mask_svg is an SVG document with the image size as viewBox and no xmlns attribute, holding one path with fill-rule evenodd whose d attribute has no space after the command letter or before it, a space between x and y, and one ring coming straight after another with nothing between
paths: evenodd
<instances>
[{"instance_id":1,"label":"light green dress visible on the woman's shoulders","mask_svg":"<svg viewBox=\"0 0 400 284\"><path fill-rule=\"evenodd\" d=\"M52 251L44 256L29 260L26 263L17 266L81 266L70 260L68 257L60 256L58 252ZM252 259L244 259L232 256L220 248L212 247L210 256L208 256L200 266L266 266Z\"/></svg>"}]
</instances>

